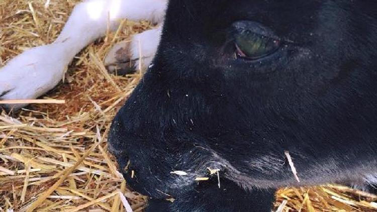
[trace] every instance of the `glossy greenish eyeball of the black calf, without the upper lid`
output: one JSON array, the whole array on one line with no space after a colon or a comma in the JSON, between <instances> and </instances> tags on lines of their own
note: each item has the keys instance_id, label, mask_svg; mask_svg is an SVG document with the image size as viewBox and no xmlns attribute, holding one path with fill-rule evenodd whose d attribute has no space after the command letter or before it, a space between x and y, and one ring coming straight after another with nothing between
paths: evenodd
<instances>
[{"instance_id":1,"label":"glossy greenish eyeball of the black calf, without the upper lid","mask_svg":"<svg viewBox=\"0 0 377 212\"><path fill-rule=\"evenodd\" d=\"M280 47L280 40L243 30L235 35L236 53L247 59L259 59Z\"/></svg>"}]
</instances>

